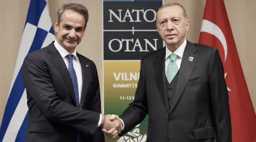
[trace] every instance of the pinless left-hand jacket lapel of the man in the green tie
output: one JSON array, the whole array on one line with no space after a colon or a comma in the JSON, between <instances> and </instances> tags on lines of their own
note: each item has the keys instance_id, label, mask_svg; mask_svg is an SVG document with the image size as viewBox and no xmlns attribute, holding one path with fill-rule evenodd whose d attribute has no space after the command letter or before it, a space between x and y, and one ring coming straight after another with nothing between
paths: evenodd
<instances>
[{"instance_id":1,"label":"pinless left-hand jacket lapel of the man in the green tie","mask_svg":"<svg viewBox=\"0 0 256 142\"><path fill-rule=\"evenodd\" d=\"M166 111L169 113L170 109L168 107L165 87L165 48L160 50L158 55L156 55L154 62L154 74L161 100L163 101Z\"/></svg>"}]
</instances>

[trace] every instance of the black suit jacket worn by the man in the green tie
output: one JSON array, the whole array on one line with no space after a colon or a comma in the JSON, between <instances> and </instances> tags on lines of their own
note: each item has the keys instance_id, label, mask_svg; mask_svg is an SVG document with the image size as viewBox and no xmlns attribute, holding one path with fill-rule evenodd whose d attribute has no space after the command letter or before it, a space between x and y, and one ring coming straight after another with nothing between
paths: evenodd
<instances>
[{"instance_id":1,"label":"black suit jacket worn by the man in the green tie","mask_svg":"<svg viewBox=\"0 0 256 142\"><path fill-rule=\"evenodd\" d=\"M135 99L120 116L125 124L120 136L148 114L147 141L231 142L228 90L216 48L187 41L170 109L165 86L161 48L141 59Z\"/></svg>"}]
</instances>

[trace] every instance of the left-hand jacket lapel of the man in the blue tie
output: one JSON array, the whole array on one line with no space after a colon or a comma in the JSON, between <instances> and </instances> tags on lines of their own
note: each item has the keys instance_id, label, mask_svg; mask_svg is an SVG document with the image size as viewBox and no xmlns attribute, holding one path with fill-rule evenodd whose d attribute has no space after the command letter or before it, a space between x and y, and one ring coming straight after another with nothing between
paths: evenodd
<instances>
[{"instance_id":1,"label":"left-hand jacket lapel of the man in the blue tie","mask_svg":"<svg viewBox=\"0 0 256 142\"><path fill-rule=\"evenodd\" d=\"M71 77L69 75L69 71L67 70L67 66L64 63L63 58L61 57L61 54L57 51L57 49L54 46L54 43L51 43L50 45L50 61L54 64L55 68L59 71L61 74L62 79L66 83L67 89L69 90L69 94L71 94L71 97L73 99L74 104L76 104L76 99L74 97L74 89Z\"/></svg>"}]
</instances>

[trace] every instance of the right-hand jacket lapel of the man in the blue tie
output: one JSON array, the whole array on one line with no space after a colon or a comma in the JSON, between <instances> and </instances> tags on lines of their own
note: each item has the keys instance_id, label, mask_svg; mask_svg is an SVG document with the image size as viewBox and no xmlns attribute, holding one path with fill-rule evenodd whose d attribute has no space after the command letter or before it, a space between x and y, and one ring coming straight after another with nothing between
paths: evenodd
<instances>
[{"instance_id":1,"label":"right-hand jacket lapel of the man in the blue tie","mask_svg":"<svg viewBox=\"0 0 256 142\"><path fill-rule=\"evenodd\" d=\"M81 101L80 101L80 106L83 107L84 101L86 99L86 94L89 86L89 81L91 80L90 77L90 72L89 72L89 64L87 60L84 60L84 58L77 53L79 62L81 64L82 68L82 75L83 75L83 86L82 86L82 92L81 92Z\"/></svg>"}]
</instances>

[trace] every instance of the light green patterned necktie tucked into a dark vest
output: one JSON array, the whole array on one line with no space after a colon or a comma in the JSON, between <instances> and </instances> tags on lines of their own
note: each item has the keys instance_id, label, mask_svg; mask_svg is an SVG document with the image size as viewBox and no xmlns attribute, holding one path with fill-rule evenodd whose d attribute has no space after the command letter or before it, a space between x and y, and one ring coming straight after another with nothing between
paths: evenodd
<instances>
[{"instance_id":1,"label":"light green patterned necktie tucked into a dark vest","mask_svg":"<svg viewBox=\"0 0 256 142\"><path fill-rule=\"evenodd\" d=\"M172 53L169 57L170 57L171 60L168 63L168 66L167 66L166 77L167 77L167 80L170 84L172 82L173 78L175 77L175 75L178 72L178 67L177 67L177 64L176 64L177 55L175 53Z\"/></svg>"}]
</instances>

